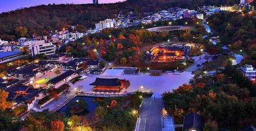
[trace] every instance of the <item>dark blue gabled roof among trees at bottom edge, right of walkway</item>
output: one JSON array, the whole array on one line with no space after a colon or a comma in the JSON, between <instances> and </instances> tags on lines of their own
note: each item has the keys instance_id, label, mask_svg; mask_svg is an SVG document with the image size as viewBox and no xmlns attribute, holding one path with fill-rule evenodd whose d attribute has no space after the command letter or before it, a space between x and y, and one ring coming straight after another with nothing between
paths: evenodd
<instances>
[{"instance_id":1,"label":"dark blue gabled roof among trees at bottom edge, right of walkway","mask_svg":"<svg viewBox=\"0 0 256 131\"><path fill-rule=\"evenodd\" d=\"M190 115L185 116L182 130L187 130L187 129L194 127L196 129L198 129L199 131L203 131L204 123L205 123L204 117L202 117L194 112Z\"/></svg>"}]
</instances>

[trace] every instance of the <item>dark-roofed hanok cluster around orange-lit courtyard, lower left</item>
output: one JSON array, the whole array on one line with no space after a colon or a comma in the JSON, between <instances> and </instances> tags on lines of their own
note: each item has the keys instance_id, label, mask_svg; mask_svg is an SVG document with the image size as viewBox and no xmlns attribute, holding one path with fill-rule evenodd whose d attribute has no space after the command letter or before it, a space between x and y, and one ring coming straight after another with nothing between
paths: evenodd
<instances>
[{"instance_id":1,"label":"dark-roofed hanok cluster around orange-lit courtyard, lower left","mask_svg":"<svg viewBox=\"0 0 256 131\"><path fill-rule=\"evenodd\" d=\"M38 97L44 96L46 93L46 89L33 89L29 88L29 86L17 84L5 89L5 91L9 93L7 100L14 101L16 104L26 105L28 110L34 106Z\"/></svg>"}]
</instances>

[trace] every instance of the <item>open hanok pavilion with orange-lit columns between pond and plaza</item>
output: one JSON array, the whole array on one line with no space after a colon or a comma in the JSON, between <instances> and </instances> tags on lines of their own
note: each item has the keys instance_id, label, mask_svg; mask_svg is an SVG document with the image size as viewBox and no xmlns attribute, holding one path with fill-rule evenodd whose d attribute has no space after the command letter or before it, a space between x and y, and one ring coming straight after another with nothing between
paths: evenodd
<instances>
[{"instance_id":1,"label":"open hanok pavilion with orange-lit columns between pond and plaza","mask_svg":"<svg viewBox=\"0 0 256 131\"><path fill-rule=\"evenodd\" d=\"M96 78L96 80L89 85L93 85L93 92L119 93L122 91L121 81L118 78Z\"/></svg>"}]
</instances>

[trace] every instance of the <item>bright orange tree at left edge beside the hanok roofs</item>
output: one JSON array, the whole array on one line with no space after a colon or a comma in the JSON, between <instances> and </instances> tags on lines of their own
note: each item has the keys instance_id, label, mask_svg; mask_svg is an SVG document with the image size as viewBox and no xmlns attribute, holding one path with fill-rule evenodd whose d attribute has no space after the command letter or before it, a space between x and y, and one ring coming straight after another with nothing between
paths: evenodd
<instances>
[{"instance_id":1,"label":"bright orange tree at left edge beside the hanok roofs","mask_svg":"<svg viewBox=\"0 0 256 131\"><path fill-rule=\"evenodd\" d=\"M0 90L0 111L5 110L6 108L10 108L12 107L12 102L7 101L6 98L8 97L9 93L4 91L4 90Z\"/></svg>"}]
</instances>

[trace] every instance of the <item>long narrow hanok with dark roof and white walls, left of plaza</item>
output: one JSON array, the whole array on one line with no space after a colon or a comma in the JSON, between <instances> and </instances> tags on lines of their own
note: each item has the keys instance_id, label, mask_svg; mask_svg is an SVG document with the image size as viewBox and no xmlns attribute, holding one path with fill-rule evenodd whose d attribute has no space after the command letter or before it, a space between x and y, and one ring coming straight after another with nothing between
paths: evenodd
<instances>
[{"instance_id":1,"label":"long narrow hanok with dark roof and white walls, left of plaza","mask_svg":"<svg viewBox=\"0 0 256 131\"><path fill-rule=\"evenodd\" d=\"M77 74L74 71L68 70L65 73L60 74L59 76L50 79L46 84L48 85L48 88L59 88L59 86L65 84L65 82L70 81L76 76Z\"/></svg>"}]
</instances>

